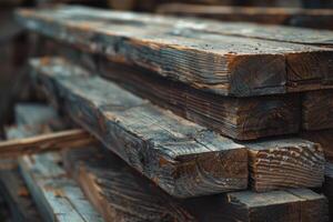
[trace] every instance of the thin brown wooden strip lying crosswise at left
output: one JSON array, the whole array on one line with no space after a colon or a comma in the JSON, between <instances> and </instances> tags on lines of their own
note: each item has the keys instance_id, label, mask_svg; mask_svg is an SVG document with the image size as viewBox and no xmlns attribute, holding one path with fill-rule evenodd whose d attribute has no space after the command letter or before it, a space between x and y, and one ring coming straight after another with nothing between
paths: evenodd
<instances>
[{"instance_id":1,"label":"thin brown wooden strip lying crosswise at left","mask_svg":"<svg viewBox=\"0 0 333 222\"><path fill-rule=\"evenodd\" d=\"M19 130L22 130L21 128ZM29 129L29 128L28 128ZM26 128L26 130L28 130ZM34 133L28 131L28 133ZM0 142L0 158L16 158L23 154L42 153L61 149L78 149L94 144L97 139L81 129L44 133L41 135L13 139Z\"/></svg>"}]
</instances>

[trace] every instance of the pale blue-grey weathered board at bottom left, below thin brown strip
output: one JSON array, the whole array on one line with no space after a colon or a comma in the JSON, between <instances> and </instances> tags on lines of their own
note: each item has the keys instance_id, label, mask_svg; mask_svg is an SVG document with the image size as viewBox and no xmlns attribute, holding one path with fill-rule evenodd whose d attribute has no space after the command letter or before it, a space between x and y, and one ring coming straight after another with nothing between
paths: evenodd
<instances>
[{"instance_id":1,"label":"pale blue-grey weathered board at bottom left, below thin brown strip","mask_svg":"<svg viewBox=\"0 0 333 222\"><path fill-rule=\"evenodd\" d=\"M67 175L58 153L26 155L20 170L44 221L103 221Z\"/></svg>"}]
</instances>

